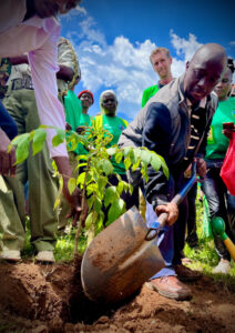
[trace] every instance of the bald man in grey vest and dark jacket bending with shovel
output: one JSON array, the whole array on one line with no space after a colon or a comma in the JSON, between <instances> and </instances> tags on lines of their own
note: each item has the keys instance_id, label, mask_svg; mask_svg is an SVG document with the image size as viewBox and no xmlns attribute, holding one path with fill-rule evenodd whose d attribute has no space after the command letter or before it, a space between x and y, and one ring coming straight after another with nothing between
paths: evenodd
<instances>
[{"instance_id":1,"label":"bald man in grey vest and dark jacket bending with shovel","mask_svg":"<svg viewBox=\"0 0 235 333\"><path fill-rule=\"evenodd\" d=\"M145 198L154 209L152 221L147 222L154 222L162 212L168 214L167 229L159 236L165 268L152 276L147 286L175 300L191 296L191 290L178 280L194 281L198 274L182 265L180 250L185 239L186 220L182 218L185 205L182 203L177 209L171 200L182 188L184 171L195 157L198 174L205 175L206 137L217 107L217 98L211 92L226 63L226 53L221 46L208 43L201 47L187 62L185 73L163 87L147 102L119 141L121 147L146 147L155 151L168 167L168 180L162 170L156 172L149 167L149 182L144 185ZM141 174L129 175L133 186L139 186Z\"/></svg>"}]
</instances>

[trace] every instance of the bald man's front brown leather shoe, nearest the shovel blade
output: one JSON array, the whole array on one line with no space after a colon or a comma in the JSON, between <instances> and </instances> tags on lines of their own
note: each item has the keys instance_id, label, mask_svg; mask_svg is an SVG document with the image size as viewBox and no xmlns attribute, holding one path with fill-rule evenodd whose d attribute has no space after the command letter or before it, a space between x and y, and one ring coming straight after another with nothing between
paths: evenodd
<instances>
[{"instance_id":1,"label":"bald man's front brown leather shoe, nearest the shovel blade","mask_svg":"<svg viewBox=\"0 0 235 333\"><path fill-rule=\"evenodd\" d=\"M187 285L181 283L176 276L162 276L146 282L150 290L157 291L162 296L176 301L184 301L192 297Z\"/></svg>"}]
</instances>

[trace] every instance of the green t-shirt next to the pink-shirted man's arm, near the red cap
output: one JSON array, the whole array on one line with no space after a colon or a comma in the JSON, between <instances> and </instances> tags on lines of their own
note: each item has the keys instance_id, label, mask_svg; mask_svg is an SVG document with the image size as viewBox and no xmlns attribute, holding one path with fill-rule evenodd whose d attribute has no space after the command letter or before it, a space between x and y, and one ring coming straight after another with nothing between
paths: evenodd
<instances>
[{"instance_id":1,"label":"green t-shirt next to the pink-shirted man's arm, near the red cap","mask_svg":"<svg viewBox=\"0 0 235 333\"><path fill-rule=\"evenodd\" d=\"M65 121L71 125L72 131L75 132L78 127L91 127L91 118L89 114L82 113L82 102L72 90L68 91L64 98L65 108ZM86 154L88 151L84 149L82 143L79 143L74 153L78 155Z\"/></svg>"}]
</instances>

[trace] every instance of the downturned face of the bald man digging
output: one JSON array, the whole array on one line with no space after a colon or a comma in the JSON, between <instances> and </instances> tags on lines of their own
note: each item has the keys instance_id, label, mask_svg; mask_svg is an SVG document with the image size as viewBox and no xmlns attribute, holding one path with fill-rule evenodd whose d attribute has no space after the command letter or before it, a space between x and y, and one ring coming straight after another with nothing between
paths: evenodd
<instances>
[{"instance_id":1,"label":"downturned face of the bald man digging","mask_svg":"<svg viewBox=\"0 0 235 333\"><path fill-rule=\"evenodd\" d=\"M224 69L222 61L206 61L197 57L186 63L184 92L192 103L200 102L208 95L219 81Z\"/></svg>"}]
</instances>

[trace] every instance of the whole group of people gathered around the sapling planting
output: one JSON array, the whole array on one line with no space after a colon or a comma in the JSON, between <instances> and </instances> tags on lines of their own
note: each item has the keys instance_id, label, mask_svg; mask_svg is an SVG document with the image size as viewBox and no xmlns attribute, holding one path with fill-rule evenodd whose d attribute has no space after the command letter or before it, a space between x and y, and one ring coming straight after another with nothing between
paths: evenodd
<instances>
[{"instance_id":1,"label":"whole group of people gathered around the sapling planting","mask_svg":"<svg viewBox=\"0 0 235 333\"><path fill-rule=\"evenodd\" d=\"M82 221L86 216L86 210L81 210L79 188L72 194L68 189L69 178L79 172L76 157L88 153L82 143L74 150L70 147L69 152L65 142L53 147L54 130L50 129L42 151L35 155L30 151L27 161L16 167L14 149L8 152L10 141L40 124L79 134L85 133L88 127L103 128L112 135L110 147L145 147L164 158L168 179L162 169L155 171L149 165L145 182L140 170L126 171L122 162L112 161L114 174L109 182L116 185L115 174L119 174L132 184L133 193L123 192L122 198L126 209L134 204L140 206L147 225L157 221L161 213L167 213L167 225L157 238L165 268L146 285L170 299L188 299L191 290L184 282L201 276L183 264L185 239L190 246L198 246L197 185L178 206L171 200L187 182L193 163L196 163L208 202L210 220L223 218L226 233L235 242L235 196L219 175L229 143L229 133L225 133L228 138L224 135L223 123L234 123L233 59L227 58L222 46L204 44L186 63L184 73L173 78L170 51L154 49L150 61L160 80L144 90L142 109L134 120L127 123L117 117L119 98L113 90L101 93L100 113L92 119L89 111L95 102L93 93L90 90L74 93L81 69L72 44L60 37L55 18L79 2L8 0L0 3L0 258L11 262L21 260L25 198L31 244L38 262L54 262L58 232L64 231L68 214L74 223L80 215ZM59 184L53 176L52 160L63 176L64 199L60 210L53 209ZM229 253L219 238L214 236L214 241L219 258L214 272L228 273Z\"/></svg>"}]
</instances>

